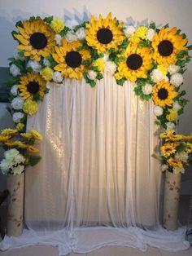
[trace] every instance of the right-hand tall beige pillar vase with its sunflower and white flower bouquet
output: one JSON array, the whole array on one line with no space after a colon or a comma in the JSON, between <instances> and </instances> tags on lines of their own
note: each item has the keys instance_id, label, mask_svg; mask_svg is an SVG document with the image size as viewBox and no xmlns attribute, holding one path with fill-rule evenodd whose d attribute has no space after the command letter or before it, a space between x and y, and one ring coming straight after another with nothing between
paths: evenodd
<instances>
[{"instance_id":1,"label":"right-hand tall beige pillar vase with its sunflower and white flower bouquet","mask_svg":"<svg viewBox=\"0 0 192 256\"><path fill-rule=\"evenodd\" d=\"M164 227L173 231L177 229L181 174L184 174L185 166L192 164L192 135L176 135L174 130L169 130L160 137L164 139L160 148L161 168L166 171Z\"/></svg>"}]
</instances>

